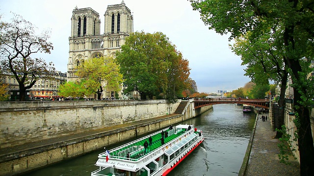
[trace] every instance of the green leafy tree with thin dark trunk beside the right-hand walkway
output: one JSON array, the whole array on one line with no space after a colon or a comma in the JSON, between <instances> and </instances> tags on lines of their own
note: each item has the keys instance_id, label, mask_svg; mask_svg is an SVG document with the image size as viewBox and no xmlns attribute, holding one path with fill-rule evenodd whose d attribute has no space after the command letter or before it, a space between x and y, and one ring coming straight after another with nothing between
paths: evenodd
<instances>
[{"instance_id":1,"label":"green leafy tree with thin dark trunk beside the right-hand walkway","mask_svg":"<svg viewBox=\"0 0 314 176\"><path fill-rule=\"evenodd\" d=\"M272 28L266 28L260 38L255 38L251 32L244 36L237 37L232 49L235 54L241 56L242 65L247 66L245 75L260 85L268 85L269 81L274 81L281 85L281 95L278 101L279 108L285 106L285 92L287 88L288 71L280 50L275 44L278 36ZM274 92L274 91L273 91ZM256 92L251 92L256 97ZM258 96L260 97L260 96ZM278 123L275 128L281 129L284 125L284 111L280 110ZM277 131L276 138L282 133Z\"/></svg>"}]
</instances>

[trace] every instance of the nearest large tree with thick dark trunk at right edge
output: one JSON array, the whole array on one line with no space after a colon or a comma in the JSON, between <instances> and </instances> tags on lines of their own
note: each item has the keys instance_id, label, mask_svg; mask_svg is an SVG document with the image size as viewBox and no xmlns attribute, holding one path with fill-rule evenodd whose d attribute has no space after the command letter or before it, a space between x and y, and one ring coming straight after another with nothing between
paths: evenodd
<instances>
[{"instance_id":1,"label":"nearest large tree with thick dark trunk at right edge","mask_svg":"<svg viewBox=\"0 0 314 176\"><path fill-rule=\"evenodd\" d=\"M312 0L190 0L202 20L220 34L230 33L230 39L248 33L261 38L269 28L277 37L278 56L286 63L292 79L294 110L298 119L297 132L301 176L314 173L314 146L309 105L314 97L313 79L308 79L309 65L314 55L314 1ZM251 40L251 39L250 39Z\"/></svg>"}]
</instances>

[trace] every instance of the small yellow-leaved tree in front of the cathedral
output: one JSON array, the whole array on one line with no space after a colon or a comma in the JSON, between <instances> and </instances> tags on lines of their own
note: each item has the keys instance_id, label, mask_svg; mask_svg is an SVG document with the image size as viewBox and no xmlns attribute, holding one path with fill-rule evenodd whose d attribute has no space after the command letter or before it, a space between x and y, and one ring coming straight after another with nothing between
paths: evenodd
<instances>
[{"instance_id":1,"label":"small yellow-leaved tree in front of the cathedral","mask_svg":"<svg viewBox=\"0 0 314 176\"><path fill-rule=\"evenodd\" d=\"M97 99L101 99L103 87L107 90L119 91L122 83L122 75L119 66L112 57L96 57L86 60L78 66L77 75L84 83L86 89L97 93ZM104 83L104 84L103 84Z\"/></svg>"}]
</instances>

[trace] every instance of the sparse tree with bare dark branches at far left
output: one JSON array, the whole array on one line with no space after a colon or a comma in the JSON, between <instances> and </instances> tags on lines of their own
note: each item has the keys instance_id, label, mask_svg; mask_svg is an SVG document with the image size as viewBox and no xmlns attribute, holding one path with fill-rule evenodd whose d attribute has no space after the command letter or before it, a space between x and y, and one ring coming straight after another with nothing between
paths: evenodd
<instances>
[{"instance_id":1,"label":"sparse tree with bare dark branches at far left","mask_svg":"<svg viewBox=\"0 0 314 176\"><path fill-rule=\"evenodd\" d=\"M32 23L15 15L11 22L0 27L0 62L5 73L11 74L19 83L20 101L25 100L26 89L39 79L52 79L55 68L41 58L31 58L34 53L51 53L48 42L50 32L37 35Z\"/></svg>"}]
</instances>

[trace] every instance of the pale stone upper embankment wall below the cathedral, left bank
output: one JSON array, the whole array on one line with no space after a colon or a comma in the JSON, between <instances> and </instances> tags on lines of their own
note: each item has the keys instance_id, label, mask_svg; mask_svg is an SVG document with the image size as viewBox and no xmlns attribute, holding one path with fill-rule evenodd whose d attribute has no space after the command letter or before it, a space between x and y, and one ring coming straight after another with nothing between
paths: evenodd
<instances>
[{"instance_id":1,"label":"pale stone upper embankment wall below the cathedral, left bank","mask_svg":"<svg viewBox=\"0 0 314 176\"><path fill-rule=\"evenodd\" d=\"M0 102L0 148L173 113L166 100Z\"/></svg>"}]
</instances>

